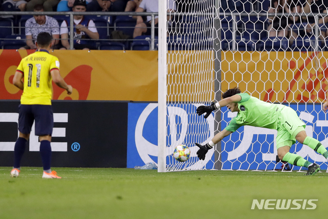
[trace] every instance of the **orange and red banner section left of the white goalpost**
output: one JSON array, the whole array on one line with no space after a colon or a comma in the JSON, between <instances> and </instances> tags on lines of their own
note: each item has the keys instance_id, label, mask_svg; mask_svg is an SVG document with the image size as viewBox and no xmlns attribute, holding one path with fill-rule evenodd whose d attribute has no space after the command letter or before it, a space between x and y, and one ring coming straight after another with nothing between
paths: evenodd
<instances>
[{"instance_id":1,"label":"orange and red banner section left of the white goalpost","mask_svg":"<svg viewBox=\"0 0 328 219\"><path fill-rule=\"evenodd\" d=\"M32 50L0 50L0 99L20 99L12 84L20 60ZM53 86L53 99L157 101L157 51L50 51L73 94Z\"/></svg>"}]
</instances>

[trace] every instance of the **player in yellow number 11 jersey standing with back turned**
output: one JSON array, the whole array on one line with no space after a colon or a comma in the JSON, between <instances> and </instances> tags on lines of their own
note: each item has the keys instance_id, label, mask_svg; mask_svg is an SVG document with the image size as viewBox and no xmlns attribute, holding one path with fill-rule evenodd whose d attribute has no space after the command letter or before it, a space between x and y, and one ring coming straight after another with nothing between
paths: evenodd
<instances>
[{"instance_id":1,"label":"player in yellow number 11 jersey standing with back turned","mask_svg":"<svg viewBox=\"0 0 328 219\"><path fill-rule=\"evenodd\" d=\"M72 94L72 86L68 85L59 73L59 60L50 55L52 37L42 32L37 35L37 50L20 61L13 78L13 84L23 90L20 98L18 130L19 137L14 149L14 167L11 177L18 177L20 160L22 160L26 142L30 137L35 121L35 135L40 140L40 155L43 163L42 178L57 178L56 171L51 171L51 135L53 128L53 113L51 106L51 81Z\"/></svg>"}]
</instances>

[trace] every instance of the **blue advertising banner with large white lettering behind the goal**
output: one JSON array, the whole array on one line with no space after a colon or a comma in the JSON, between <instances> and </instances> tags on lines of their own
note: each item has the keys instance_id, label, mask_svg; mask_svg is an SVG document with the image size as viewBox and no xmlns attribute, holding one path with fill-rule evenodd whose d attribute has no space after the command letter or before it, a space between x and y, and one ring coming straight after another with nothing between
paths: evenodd
<instances>
[{"instance_id":1,"label":"blue advertising banner with large white lettering behind the goal","mask_svg":"<svg viewBox=\"0 0 328 219\"><path fill-rule=\"evenodd\" d=\"M318 139L324 146L328 145L328 120L326 114L321 110L320 104L296 104L290 105L297 111L299 118L306 124L305 130L308 136ZM168 107L168 143L169 145L187 144L191 149L192 162L199 162L196 157L197 147L194 142L207 143L214 136L214 114L206 122L203 117L196 115L197 105L181 104ZM221 128L225 128L236 113L231 113L226 107L221 108ZM145 163L157 163L157 103L129 103L128 107L128 148L127 167L142 166ZM176 112L176 113L172 113ZM187 116L184 116L187 115ZM193 119L193 120L192 120ZM193 121L193 122L191 122ZM185 126L185 127L183 127ZM198 129L201 128L201 129ZM199 132L201 135L191 133ZM243 126L231 136L221 141L222 169L258 169L272 170L276 164L276 142L277 131L273 129ZM176 136L172 138L172 136ZM186 143L187 142L187 143ZM326 160L306 145L296 143L291 147L292 153L311 162L321 165L326 169ZM168 150L168 155L171 150ZM205 162L201 165L208 169L213 168L214 150L210 150ZM168 159L170 162L170 159ZM172 162L172 159L171 159ZM199 167L199 165L198 165ZM279 166L280 167L280 166ZM293 170L298 170L294 167Z\"/></svg>"}]
</instances>

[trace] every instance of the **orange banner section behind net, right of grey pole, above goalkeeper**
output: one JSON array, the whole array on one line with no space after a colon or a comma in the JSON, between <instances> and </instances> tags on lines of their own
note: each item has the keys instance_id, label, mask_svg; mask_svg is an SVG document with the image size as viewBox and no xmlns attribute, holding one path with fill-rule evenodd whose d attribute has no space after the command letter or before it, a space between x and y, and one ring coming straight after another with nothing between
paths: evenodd
<instances>
[{"instance_id":1,"label":"orange banner section behind net, right of grey pole, above goalkeeper","mask_svg":"<svg viewBox=\"0 0 328 219\"><path fill-rule=\"evenodd\" d=\"M222 52L222 90L239 86L271 102L322 102L328 52Z\"/></svg>"}]
</instances>

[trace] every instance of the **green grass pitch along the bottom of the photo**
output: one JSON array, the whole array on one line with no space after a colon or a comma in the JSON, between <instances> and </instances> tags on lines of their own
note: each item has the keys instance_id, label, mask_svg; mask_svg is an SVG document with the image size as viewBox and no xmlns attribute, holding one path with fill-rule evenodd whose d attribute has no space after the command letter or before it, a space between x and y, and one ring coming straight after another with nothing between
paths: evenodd
<instances>
[{"instance_id":1,"label":"green grass pitch along the bottom of the photo","mask_svg":"<svg viewBox=\"0 0 328 219\"><path fill-rule=\"evenodd\" d=\"M328 173L0 167L0 218L327 218ZM251 210L253 199L318 199L315 210ZM311 206L307 206L311 207Z\"/></svg>"}]
</instances>

